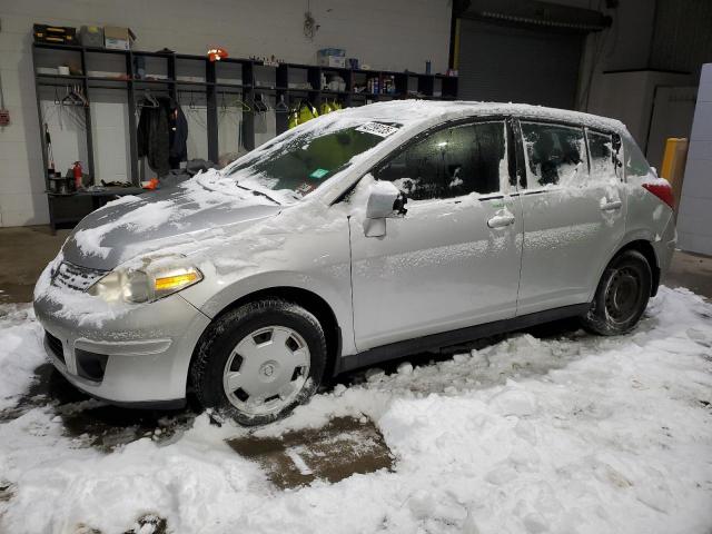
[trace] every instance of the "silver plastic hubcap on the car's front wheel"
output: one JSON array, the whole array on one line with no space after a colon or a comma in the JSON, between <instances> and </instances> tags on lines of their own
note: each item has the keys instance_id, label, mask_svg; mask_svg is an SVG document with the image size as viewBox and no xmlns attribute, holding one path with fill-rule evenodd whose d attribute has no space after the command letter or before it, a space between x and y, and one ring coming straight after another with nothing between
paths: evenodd
<instances>
[{"instance_id":1,"label":"silver plastic hubcap on the car's front wheel","mask_svg":"<svg viewBox=\"0 0 712 534\"><path fill-rule=\"evenodd\" d=\"M268 326L245 336L225 364L222 388L233 406L249 415L281 411L309 376L304 338L286 326Z\"/></svg>"}]
</instances>

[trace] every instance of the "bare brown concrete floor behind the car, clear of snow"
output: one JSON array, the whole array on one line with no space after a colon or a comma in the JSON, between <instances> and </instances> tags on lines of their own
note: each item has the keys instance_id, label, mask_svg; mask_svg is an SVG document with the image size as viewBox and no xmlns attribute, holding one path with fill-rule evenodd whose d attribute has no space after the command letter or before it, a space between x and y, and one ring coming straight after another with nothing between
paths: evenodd
<instances>
[{"instance_id":1,"label":"bare brown concrete floor behind the car, clear of snow","mask_svg":"<svg viewBox=\"0 0 712 534\"><path fill-rule=\"evenodd\" d=\"M67 239L47 226L0 228L0 304L32 300L34 281ZM678 250L663 284L686 287L712 299L712 257Z\"/></svg>"}]
</instances>

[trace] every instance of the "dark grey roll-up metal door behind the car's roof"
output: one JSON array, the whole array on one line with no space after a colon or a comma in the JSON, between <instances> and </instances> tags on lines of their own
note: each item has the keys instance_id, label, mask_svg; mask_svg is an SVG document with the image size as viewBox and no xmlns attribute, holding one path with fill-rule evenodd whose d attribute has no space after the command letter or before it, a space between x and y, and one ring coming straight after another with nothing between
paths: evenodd
<instances>
[{"instance_id":1,"label":"dark grey roll-up metal door behind the car's roof","mask_svg":"<svg viewBox=\"0 0 712 534\"><path fill-rule=\"evenodd\" d=\"M573 109L583 34L461 19L458 97Z\"/></svg>"}]
</instances>

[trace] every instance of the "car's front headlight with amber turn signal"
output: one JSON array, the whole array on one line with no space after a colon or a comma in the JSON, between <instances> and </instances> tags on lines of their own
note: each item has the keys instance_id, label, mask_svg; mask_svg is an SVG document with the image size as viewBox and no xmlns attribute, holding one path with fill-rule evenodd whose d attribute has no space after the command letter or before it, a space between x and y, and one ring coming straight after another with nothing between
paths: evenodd
<instances>
[{"instance_id":1,"label":"car's front headlight with amber turn signal","mask_svg":"<svg viewBox=\"0 0 712 534\"><path fill-rule=\"evenodd\" d=\"M141 265L118 267L87 291L108 303L150 303L192 286L202 279L197 267L182 257L141 259Z\"/></svg>"}]
</instances>

